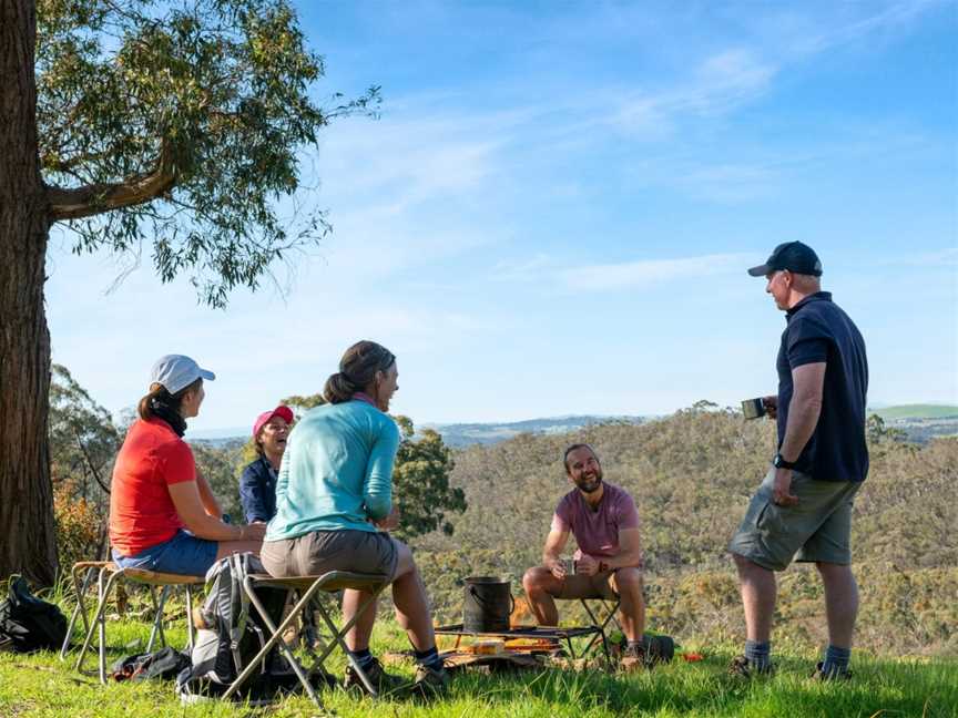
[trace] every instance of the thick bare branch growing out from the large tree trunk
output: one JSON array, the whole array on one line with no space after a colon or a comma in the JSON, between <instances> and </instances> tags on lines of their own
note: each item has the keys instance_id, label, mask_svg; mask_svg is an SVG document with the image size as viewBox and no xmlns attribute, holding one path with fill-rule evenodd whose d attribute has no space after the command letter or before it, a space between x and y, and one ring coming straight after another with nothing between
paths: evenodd
<instances>
[{"instance_id":1,"label":"thick bare branch growing out from the large tree trunk","mask_svg":"<svg viewBox=\"0 0 958 718\"><path fill-rule=\"evenodd\" d=\"M155 199L176 183L176 164L170 144L164 141L156 168L149 174L126 177L123 182L95 183L64 189L48 187L50 219L81 219L111 209L132 207Z\"/></svg>"}]
</instances>

